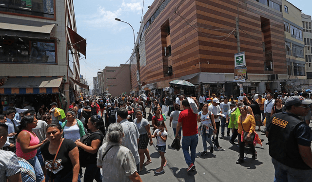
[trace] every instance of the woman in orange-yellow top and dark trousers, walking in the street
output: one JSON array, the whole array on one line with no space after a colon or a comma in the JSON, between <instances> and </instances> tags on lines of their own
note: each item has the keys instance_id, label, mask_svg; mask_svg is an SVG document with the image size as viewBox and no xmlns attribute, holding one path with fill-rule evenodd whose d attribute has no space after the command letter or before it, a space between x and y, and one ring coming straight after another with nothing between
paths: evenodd
<instances>
[{"instance_id":1,"label":"woman in orange-yellow top and dark trousers, walking in the street","mask_svg":"<svg viewBox=\"0 0 312 182\"><path fill-rule=\"evenodd\" d=\"M247 108L246 106L239 107L239 111L241 113L241 116L238 117L238 142L239 142L239 159L236 161L236 164L241 164L244 162L244 149L245 149L245 142L241 142L241 137L244 137L244 132L249 132L247 135L247 140L254 140L252 137L252 134L254 133L255 129L255 120L254 116L251 114L247 114ZM254 149L253 144L248 144L249 147L252 150L253 157L252 159L257 159L257 153Z\"/></svg>"}]
</instances>

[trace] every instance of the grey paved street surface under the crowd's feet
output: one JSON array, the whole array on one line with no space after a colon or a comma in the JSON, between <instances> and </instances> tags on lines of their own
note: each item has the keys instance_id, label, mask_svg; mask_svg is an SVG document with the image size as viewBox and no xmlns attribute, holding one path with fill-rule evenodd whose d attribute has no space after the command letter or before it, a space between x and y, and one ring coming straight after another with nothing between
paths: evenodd
<instances>
[{"instance_id":1,"label":"grey paved street surface under the crowd's feet","mask_svg":"<svg viewBox=\"0 0 312 182\"><path fill-rule=\"evenodd\" d=\"M210 146L207 144L208 153L206 156L201 157L200 153L203 151L203 145L202 139L199 137L196 148L196 170L187 173L188 166L185 163L182 148L176 151L170 147L174 140L174 133L173 129L169 127L169 121L170 118L168 117L166 120L168 137L165 154L168 165L164 168L164 173L155 174L155 170L160 166L161 159L156 151L156 139L154 138L154 145L148 146L152 163L145 166L140 173L143 182L273 182L274 167L268 152L269 146L265 145L267 138L263 133L258 133L261 139L265 139L263 147L259 145L255 147L258 159L252 160L252 154L246 148L245 163L243 164L235 164L238 159L239 147L238 145L233 146L230 144L230 138L227 137L219 139L220 146L224 149L223 151L218 151L215 148L214 153L211 154L209 153Z\"/></svg>"}]
</instances>

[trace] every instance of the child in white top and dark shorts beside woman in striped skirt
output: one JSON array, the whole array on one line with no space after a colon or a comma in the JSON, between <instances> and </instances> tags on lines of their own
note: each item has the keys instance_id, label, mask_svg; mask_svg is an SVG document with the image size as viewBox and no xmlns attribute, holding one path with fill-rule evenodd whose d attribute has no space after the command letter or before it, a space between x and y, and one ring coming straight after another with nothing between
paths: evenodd
<instances>
[{"instance_id":1,"label":"child in white top and dark shorts beside woman in striped skirt","mask_svg":"<svg viewBox=\"0 0 312 182\"><path fill-rule=\"evenodd\" d=\"M165 125L163 121L159 121L158 123L158 129L155 130L154 135L152 135L152 138L157 137L157 147L158 147L158 152L161 157L161 165L159 169L155 171L156 174L164 172L163 167L165 167L168 163L165 158L165 153L166 153L166 141L167 141L167 135L168 133L164 130Z\"/></svg>"}]
</instances>

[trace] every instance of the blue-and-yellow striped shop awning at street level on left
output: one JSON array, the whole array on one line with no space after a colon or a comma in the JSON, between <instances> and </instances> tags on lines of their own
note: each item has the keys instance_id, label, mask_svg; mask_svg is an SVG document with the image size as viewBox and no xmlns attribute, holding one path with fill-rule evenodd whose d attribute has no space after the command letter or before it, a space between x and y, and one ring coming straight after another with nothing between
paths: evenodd
<instances>
[{"instance_id":1,"label":"blue-and-yellow striped shop awning at street level on left","mask_svg":"<svg viewBox=\"0 0 312 182\"><path fill-rule=\"evenodd\" d=\"M59 93L62 77L9 77L0 94Z\"/></svg>"}]
</instances>

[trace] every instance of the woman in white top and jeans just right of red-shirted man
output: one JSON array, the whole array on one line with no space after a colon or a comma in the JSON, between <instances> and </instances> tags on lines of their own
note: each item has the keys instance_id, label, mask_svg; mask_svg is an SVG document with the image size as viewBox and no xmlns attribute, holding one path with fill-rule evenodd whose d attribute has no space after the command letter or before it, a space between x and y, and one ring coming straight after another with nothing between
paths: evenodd
<instances>
[{"instance_id":1,"label":"woman in white top and jeans just right of red-shirted man","mask_svg":"<svg viewBox=\"0 0 312 182\"><path fill-rule=\"evenodd\" d=\"M208 103L204 103L202 111L198 113L197 122L200 122L198 132L201 135L203 141L204 151L201 156L207 154L207 143L210 144L210 153L214 153L214 144L211 141L211 136L216 133L214 114L208 111Z\"/></svg>"}]
</instances>

